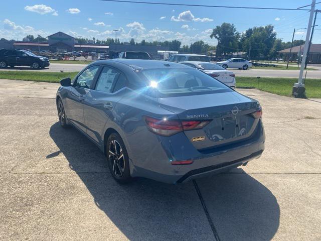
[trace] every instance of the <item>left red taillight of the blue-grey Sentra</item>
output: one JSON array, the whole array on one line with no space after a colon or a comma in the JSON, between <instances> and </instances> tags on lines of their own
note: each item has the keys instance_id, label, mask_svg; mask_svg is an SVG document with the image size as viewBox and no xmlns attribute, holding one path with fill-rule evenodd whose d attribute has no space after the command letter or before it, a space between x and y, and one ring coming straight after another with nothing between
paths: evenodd
<instances>
[{"instance_id":1,"label":"left red taillight of the blue-grey Sentra","mask_svg":"<svg viewBox=\"0 0 321 241\"><path fill-rule=\"evenodd\" d=\"M169 137L179 132L201 129L210 121L179 121L145 116L145 122L149 131L157 135Z\"/></svg>"}]
</instances>

